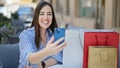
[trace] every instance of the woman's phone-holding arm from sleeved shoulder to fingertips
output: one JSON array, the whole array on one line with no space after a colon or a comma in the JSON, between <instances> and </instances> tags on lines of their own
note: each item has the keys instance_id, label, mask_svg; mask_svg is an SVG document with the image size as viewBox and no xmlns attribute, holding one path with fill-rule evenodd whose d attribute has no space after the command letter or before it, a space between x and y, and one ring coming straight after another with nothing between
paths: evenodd
<instances>
[{"instance_id":1,"label":"woman's phone-holding arm from sleeved shoulder to fingertips","mask_svg":"<svg viewBox=\"0 0 120 68\"><path fill-rule=\"evenodd\" d=\"M58 43L61 42L63 38L53 43L54 37L52 37L43 50L35 52L33 49L33 44L31 43L33 40L30 41L31 38L26 33L22 33L19 38L21 68L27 66L27 64L29 63L37 67L37 64L40 64L40 62L44 58L57 54L66 46L66 42L64 42L61 45L58 45ZM48 62L46 63L48 64Z\"/></svg>"}]
</instances>

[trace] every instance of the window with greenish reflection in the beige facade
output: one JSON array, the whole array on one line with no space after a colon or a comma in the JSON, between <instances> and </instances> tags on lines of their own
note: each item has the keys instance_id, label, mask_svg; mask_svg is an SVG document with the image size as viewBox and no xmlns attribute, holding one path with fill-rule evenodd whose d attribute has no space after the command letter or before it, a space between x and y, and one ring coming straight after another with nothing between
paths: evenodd
<instances>
[{"instance_id":1,"label":"window with greenish reflection in the beige facade","mask_svg":"<svg viewBox=\"0 0 120 68\"><path fill-rule=\"evenodd\" d=\"M95 18L95 0L76 0L76 16Z\"/></svg>"}]
</instances>

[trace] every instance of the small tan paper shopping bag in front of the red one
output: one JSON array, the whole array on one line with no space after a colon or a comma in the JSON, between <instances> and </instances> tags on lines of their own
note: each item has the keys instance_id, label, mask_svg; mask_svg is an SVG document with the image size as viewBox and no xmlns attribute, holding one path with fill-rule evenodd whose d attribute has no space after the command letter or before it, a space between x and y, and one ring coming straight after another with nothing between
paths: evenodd
<instances>
[{"instance_id":1,"label":"small tan paper shopping bag in front of the red one","mask_svg":"<svg viewBox=\"0 0 120 68\"><path fill-rule=\"evenodd\" d=\"M89 46L88 68L117 68L117 48Z\"/></svg>"}]
</instances>

